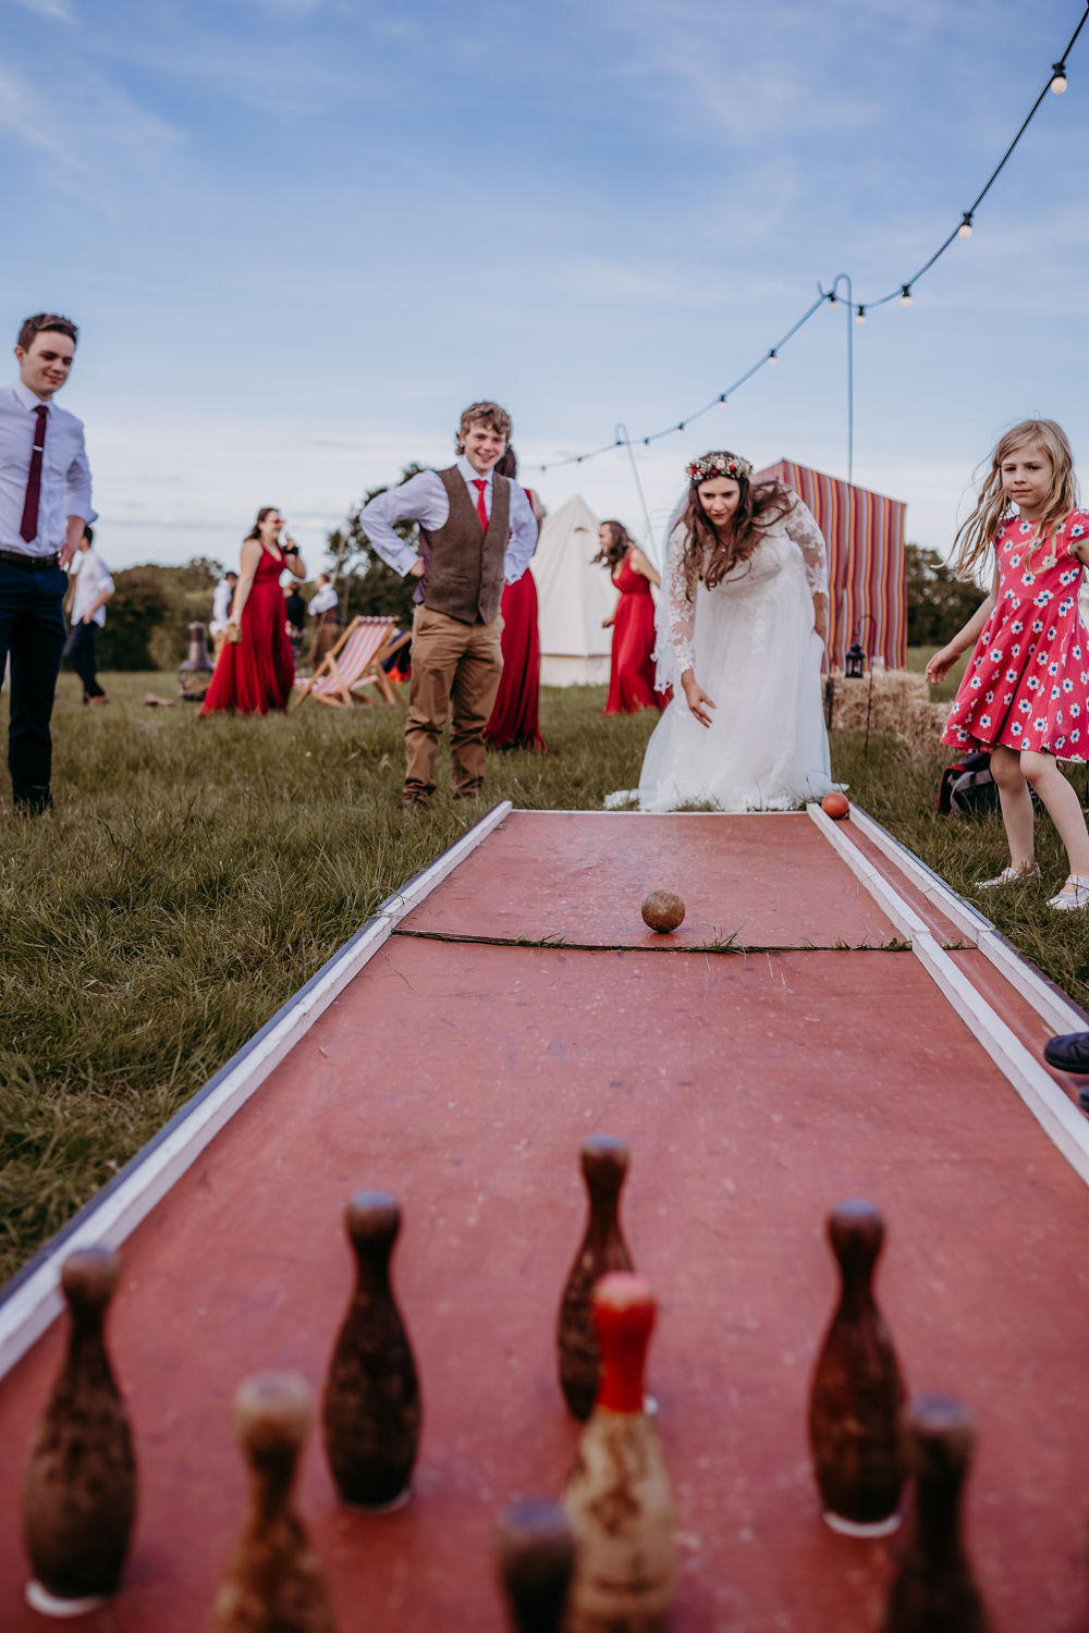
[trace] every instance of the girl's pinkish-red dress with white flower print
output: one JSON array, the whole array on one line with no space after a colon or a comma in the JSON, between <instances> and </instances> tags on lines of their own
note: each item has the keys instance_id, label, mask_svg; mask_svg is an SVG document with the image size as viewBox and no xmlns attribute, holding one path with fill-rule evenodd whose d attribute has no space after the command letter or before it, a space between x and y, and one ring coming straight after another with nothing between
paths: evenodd
<instances>
[{"instance_id":1,"label":"girl's pinkish-red dress with white flower print","mask_svg":"<svg viewBox=\"0 0 1089 1633\"><path fill-rule=\"evenodd\" d=\"M1087 759L1089 632L1078 611L1089 511L1076 509L1038 542L1014 518L994 536L998 601L960 683L942 743L1035 750Z\"/></svg>"}]
</instances>

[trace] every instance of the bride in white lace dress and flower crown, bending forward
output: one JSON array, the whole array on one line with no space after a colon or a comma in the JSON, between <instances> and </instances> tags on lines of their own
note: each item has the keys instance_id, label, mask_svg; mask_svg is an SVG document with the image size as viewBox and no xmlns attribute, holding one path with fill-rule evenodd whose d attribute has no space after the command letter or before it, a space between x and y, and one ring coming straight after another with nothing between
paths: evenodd
<instances>
[{"instance_id":1,"label":"bride in white lace dress and flower crown, bending forward","mask_svg":"<svg viewBox=\"0 0 1089 1633\"><path fill-rule=\"evenodd\" d=\"M727 452L687 467L655 650L656 686L673 686L674 702L647 745L638 789L611 794L611 807L790 810L834 787L820 681L825 539L797 493L751 475Z\"/></svg>"}]
</instances>

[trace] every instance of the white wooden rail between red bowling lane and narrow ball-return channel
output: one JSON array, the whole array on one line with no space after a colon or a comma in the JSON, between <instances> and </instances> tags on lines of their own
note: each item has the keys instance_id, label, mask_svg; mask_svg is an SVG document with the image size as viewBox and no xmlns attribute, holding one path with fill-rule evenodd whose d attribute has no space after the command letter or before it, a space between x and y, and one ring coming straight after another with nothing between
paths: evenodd
<instances>
[{"instance_id":1,"label":"white wooden rail between red bowling lane and narrow ball-return channel","mask_svg":"<svg viewBox=\"0 0 1089 1633\"><path fill-rule=\"evenodd\" d=\"M854 807L851 810L854 820ZM1006 1081L1017 1091L1053 1145L1089 1186L1089 1124L1078 1107L986 998L975 990L945 949L939 947L914 908L896 893L887 879L882 879L873 864L846 838L839 825L826 816L820 805L810 805L808 812L851 872L865 885L900 934L911 942L914 957Z\"/></svg>"}]
</instances>

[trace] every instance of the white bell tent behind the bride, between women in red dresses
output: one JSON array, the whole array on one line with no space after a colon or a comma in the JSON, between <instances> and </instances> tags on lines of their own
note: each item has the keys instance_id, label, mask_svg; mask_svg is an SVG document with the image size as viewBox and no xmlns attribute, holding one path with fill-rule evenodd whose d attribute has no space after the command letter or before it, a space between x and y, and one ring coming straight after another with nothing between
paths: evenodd
<instances>
[{"instance_id":1,"label":"white bell tent behind the bride, between women in red dresses","mask_svg":"<svg viewBox=\"0 0 1089 1633\"><path fill-rule=\"evenodd\" d=\"M598 554L598 518L575 495L547 516L531 562L540 617L540 684L598 686L609 679L617 593Z\"/></svg>"}]
</instances>

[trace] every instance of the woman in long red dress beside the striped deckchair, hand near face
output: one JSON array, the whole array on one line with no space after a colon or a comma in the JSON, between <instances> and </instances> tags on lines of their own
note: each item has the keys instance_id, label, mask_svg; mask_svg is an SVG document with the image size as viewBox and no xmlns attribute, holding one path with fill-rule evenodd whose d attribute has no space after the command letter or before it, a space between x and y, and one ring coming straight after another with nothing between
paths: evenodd
<instances>
[{"instance_id":1,"label":"woman in long red dress beside the striped deckchair, hand near face","mask_svg":"<svg viewBox=\"0 0 1089 1633\"><path fill-rule=\"evenodd\" d=\"M284 627L279 575L287 568L296 578L305 578L305 567L289 534L279 542L282 526L276 506L266 505L242 542L242 570L202 715L268 714L286 709L291 701L296 665Z\"/></svg>"}]
</instances>

